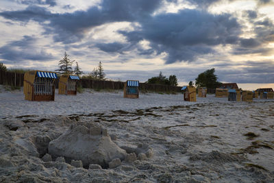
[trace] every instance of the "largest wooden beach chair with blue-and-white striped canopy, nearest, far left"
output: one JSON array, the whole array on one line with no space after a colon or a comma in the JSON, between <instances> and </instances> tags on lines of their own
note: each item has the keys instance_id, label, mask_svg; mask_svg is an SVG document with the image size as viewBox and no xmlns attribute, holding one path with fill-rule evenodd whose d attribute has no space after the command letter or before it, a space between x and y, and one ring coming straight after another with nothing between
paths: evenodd
<instances>
[{"instance_id":1,"label":"largest wooden beach chair with blue-and-white striped canopy, nearest, far left","mask_svg":"<svg viewBox=\"0 0 274 183\"><path fill-rule=\"evenodd\" d=\"M24 95L29 101L54 101L56 73L28 71L24 75Z\"/></svg>"}]
</instances>

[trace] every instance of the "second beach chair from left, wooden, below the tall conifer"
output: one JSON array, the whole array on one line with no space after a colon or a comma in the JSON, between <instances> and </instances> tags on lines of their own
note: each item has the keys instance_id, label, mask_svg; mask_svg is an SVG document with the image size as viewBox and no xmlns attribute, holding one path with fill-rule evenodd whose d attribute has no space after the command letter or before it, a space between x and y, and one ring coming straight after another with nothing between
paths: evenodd
<instances>
[{"instance_id":1,"label":"second beach chair from left, wooden, below the tall conifer","mask_svg":"<svg viewBox=\"0 0 274 183\"><path fill-rule=\"evenodd\" d=\"M77 75L61 75L58 84L58 94L60 95L77 95Z\"/></svg>"}]
</instances>

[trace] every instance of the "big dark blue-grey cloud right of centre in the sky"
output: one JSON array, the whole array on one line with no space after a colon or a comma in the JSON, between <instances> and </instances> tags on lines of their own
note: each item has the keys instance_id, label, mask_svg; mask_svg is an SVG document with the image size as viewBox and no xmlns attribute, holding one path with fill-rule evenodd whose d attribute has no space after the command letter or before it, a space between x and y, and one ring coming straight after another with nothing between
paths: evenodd
<instances>
[{"instance_id":1,"label":"big dark blue-grey cloud right of centre in the sky","mask_svg":"<svg viewBox=\"0 0 274 183\"><path fill-rule=\"evenodd\" d=\"M199 10L150 16L140 25L140 30L120 33L132 43L149 40L158 54L169 53L167 64L192 62L197 56L214 53L212 46L236 44L240 34L240 25L230 14L213 15Z\"/></svg>"}]
</instances>

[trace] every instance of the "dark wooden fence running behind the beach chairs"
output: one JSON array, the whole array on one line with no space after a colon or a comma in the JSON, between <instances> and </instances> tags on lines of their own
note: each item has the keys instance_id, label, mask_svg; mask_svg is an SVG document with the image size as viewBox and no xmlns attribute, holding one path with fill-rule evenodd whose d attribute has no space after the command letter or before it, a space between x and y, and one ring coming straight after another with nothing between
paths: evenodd
<instances>
[{"instance_id":1,"label":"dark wooden fence running behind the beach chairs","mask_svg":"<svg viewBox=\"0 0 274 183\"><path fill-rule=\"evenodd\" d=\"M13 73L9 71L0 71L0 84L7 84L11 86L23 86L24 74ZM58 88L59 78L55 81L55 88ZM112 82L103 80L79 80L78 85L83 88L93 89L110 89L110 90L122 90L125 82ZM140 83L139 89L142 92L153 91L153 92L164 92L164 93L177 93L181 92L181 86L168 86L161 84L147 84Z\"/></svg>"}]
</instances>

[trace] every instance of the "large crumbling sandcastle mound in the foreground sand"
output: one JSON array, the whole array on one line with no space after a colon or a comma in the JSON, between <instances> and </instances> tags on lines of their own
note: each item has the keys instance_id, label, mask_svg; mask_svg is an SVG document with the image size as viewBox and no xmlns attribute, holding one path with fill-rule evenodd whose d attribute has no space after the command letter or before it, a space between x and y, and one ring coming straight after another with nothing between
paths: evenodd
<instances>
[{"instance_id":1,"label":"large crumbling sandcastle mound in the foreground sand","mask_svg":"<svg viewBox=\"0 0 274 183\"><path fill-rule=\"evenodd\" d=\"M127 155L124 149L112 142L107 130L97 125L71 125L69 130L49 143L53 158L63 156L67 162L82 160L84 167L100 164L108 167L114 158L121 160Z\"/></svg>"}]
</instances>

